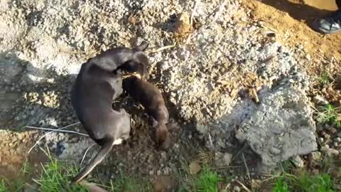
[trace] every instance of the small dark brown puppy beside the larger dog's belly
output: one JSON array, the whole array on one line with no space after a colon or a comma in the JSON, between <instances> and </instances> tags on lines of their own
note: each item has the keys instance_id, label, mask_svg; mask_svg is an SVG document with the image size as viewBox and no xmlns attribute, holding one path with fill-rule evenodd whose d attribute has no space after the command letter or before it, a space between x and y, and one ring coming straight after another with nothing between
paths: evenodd
<instances>
[{"instance_id":1,"label":"small dark brown puppy beside the larger dog's belly","mask_svg":"<svg viewBox=\"0 0 341 192\"><path fill-rule=\"evenodd\" d=\"M146 113L151 119L151 124L156 128L156 144L161 149L168 149L171 140L166 124L169 114L165 102L158 88L135 75L123 80L123 89L133 97L136 102L144 106Z\"/></svg>"}]
</instances>

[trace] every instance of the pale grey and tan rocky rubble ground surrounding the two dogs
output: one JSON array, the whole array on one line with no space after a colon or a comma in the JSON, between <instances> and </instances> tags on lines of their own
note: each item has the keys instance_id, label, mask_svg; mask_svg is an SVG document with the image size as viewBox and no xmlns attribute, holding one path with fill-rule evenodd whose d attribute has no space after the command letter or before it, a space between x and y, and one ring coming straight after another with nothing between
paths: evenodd
<instances>
[{"instance_id":1,"label":"pale grey and tan rocky rubble ground surrounding the two dogs","mask_svg":"<svg viewBox=\"0 0 341 192\"><path fill-rule=\"evenodd\" d=\"M153 178L209 151L217 167L244 169L245 157L256 176L291 157L301 164L299 155L320 148L340 153L339 130L322 129L312 107L340 101L339 58L316 59L303 45L284 46L267 23L252 19L244 1L8 0L0 8L0 134L11 138L1 140L0 171L13 169L8 164L45 134L23 126L56 129L78 121L70 87L87 58L141 41L151 44L150 81L179 125L173 147L156 150L141 107L120 98L115 105L133 117L131 139L93 175L108 179L123 169ZM335 77L333 87L316 85L307 67L321 63ZM79 162L93 142L53 132L39 144ZM86 161L97 150L92 147Z\"/></svg>"}]
</instances>

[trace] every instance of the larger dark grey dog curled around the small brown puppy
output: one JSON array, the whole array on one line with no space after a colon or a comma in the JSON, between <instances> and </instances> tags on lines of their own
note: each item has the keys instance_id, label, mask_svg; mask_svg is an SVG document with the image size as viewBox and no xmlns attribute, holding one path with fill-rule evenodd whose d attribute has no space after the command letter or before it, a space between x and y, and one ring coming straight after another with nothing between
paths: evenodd
<instances>
[{"instance_id":1,"label":"larger dark grey dog curled around the small brown puppy","mask_svg":"<svg viewBox=\"0 0 341 192\"><path fill-rule=\"evenodd\" d=\"M90 137L102 148L72 181L78 183L99 164L115 144L129 138L130 115L124 110L112 110L112 101L121 95L121 70L146 76L148 58L137 48L113 48L87 60L72 89L71 102ZM138 70L138 71L134 71Z\"/></svg>"}]
</instances>

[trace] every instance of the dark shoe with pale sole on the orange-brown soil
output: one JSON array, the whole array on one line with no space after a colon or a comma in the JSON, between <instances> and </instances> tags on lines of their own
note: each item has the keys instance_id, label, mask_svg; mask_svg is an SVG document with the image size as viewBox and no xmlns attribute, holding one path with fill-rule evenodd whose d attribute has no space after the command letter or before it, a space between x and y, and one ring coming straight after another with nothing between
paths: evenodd
<instances>
[{"instance_id":1,"label":"dark shoe with pale sole on the orange-brown soil","mask_svg":"<svg viewBox=\"0 0 341 192\"><path fill-rule=\"evenodd\" d=\"M318 19L313 23L313 28L325 34L341 32L341 10L335 11L328 17Z\"/></svg>"}]
</instances>

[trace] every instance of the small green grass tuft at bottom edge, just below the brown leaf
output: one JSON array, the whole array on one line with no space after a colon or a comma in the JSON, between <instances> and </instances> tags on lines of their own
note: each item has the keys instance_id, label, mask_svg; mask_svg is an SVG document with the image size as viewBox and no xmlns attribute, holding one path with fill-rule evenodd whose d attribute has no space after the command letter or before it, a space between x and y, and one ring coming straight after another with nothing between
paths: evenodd
<instances>
[{"instance_id":1,"label":"small green grass tuft at bottom edge, just below the brown leaf","mask_svg":"<svg viewBox=\"0 0 341 192\"><path fill-rule=\"evenodd\" d=\"M218 182L222 178L218 176L217 172L211 171L207 166L204 166L195 181L195 191L197 192L217 192Z\"/></svg>"}]
</instances>

